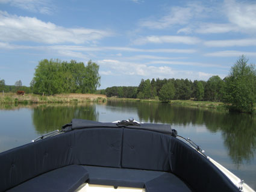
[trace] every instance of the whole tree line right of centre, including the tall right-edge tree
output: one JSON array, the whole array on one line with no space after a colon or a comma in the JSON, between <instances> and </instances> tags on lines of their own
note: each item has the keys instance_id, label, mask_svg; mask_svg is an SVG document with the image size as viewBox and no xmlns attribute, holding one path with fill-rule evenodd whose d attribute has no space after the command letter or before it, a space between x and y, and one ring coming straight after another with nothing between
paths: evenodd
<instances>
[{"instance_id":1,"label":"whole tree line right of centre, including the tall right-edge tree","mask_svg":"<svg viewBox=\"0 0 256 192\"><path fill-rule=\"evenodd\" d=\"M225 78L211 76L208 81L189 79L142 79L138 87L108 87L108 97L171 99L224 102L230 111L252 113L256 103L256 69L242 55Z\"/></svg>"}]
</instances>

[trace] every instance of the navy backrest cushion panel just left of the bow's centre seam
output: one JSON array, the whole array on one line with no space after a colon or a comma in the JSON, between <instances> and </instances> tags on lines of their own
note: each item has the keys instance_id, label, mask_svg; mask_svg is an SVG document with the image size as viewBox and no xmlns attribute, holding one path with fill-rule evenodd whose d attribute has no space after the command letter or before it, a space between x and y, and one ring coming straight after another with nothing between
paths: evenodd
<instances>
[{"instance_id":1,"label":"navy backrest cushion panel just left of the bow's centre seam","mask_svg":"<svg viewBox=\"0 0 256 192\"><path fill-rule=\"evenodd\" d=\"M120 128L75 130L74 164L120 167L122 132Z\"/></svg>"}]
</instances>

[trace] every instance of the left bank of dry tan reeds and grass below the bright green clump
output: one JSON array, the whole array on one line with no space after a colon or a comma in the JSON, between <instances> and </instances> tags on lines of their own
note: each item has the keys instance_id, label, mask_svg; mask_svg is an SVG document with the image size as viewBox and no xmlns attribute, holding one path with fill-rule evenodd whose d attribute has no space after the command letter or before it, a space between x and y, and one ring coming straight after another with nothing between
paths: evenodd
<instances>
[{"instance_id":1,"label":"left bank of dry tan reeds and grass below the bright green clump","mask_svg":"<svg viewBox=\"0 0 256 192\"><path fill-rule=\"evenodd\" d=\"M105 102L104 94L56 94L54 96L41 96L38 94L17 95L16 93L1 93L1 104L48 104L70 102Z\"/></svg>"}]
</instances>

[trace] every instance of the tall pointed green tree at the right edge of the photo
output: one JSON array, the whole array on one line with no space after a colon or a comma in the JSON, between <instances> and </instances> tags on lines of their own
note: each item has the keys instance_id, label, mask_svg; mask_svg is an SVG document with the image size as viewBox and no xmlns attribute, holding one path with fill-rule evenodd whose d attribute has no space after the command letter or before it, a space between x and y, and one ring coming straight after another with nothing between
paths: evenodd
<instances>
[{"instance_id":1,"label":"tall pointed green tree at the right edge of the photo","mask_svg":"<svg viewBox=\"0 0 256 192\"><path fill-rule=\"evenodd\" d=\"M252 113L256 102L256 70L242 55L225 78L225 103L229 110Z\"/></svg>"}]
</instances>

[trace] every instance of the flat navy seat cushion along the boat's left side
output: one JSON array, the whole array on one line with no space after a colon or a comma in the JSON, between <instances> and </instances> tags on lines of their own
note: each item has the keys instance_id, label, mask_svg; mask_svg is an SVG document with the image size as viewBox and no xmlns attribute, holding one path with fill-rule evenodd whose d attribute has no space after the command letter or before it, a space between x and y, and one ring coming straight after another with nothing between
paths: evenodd
<instances>
[{"instance_id":1,"label":"flat navy seat cushion along the boat's left side","mask_svg":"<svg viewBox=\"0 0 256 192\"><path fill-rule=\"evenodd\" d=\"M8 191L75 191L88 178L89 174L83 166L70 165L39 175Z\"/></svg>"}]
</instances>

